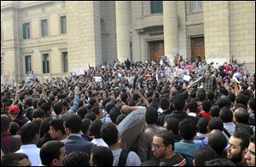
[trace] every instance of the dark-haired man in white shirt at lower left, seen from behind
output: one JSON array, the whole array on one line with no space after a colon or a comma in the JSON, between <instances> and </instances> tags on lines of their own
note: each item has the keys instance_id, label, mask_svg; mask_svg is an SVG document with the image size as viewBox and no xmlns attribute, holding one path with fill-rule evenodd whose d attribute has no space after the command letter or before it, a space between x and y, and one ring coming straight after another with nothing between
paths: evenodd
<instances>
[{"instance_id":1,"label":"dark-haired man in white shirt at lower left, seen from behind","mask_svg":"<svg viewBox=\"0 0 256 167\"><path fill-rule=\"evenodd\" d=\"M37 124L27 123L21 127L20 130L21 145L20 150L15 153L25 153L32 166L38 166L41 164L40 159L40 148L37 147L38 141L40 139L40 130Z\"/></svg>"}]
</instances>

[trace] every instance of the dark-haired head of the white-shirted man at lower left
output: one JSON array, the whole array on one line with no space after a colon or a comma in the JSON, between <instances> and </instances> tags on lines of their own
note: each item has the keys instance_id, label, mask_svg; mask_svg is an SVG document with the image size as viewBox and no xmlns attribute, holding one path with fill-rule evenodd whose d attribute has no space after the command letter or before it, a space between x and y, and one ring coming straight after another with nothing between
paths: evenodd
<instances>
[{"instance_id":1,"label":"dark-haired head of the white-shirted man at lower left","mask_svg":"<svg viewBox=\"0 0 256 167\"><path fill-rule=\"evenodd\" d=\"M21 141L26 144L38 144L40 139L40 130L38 124L26 123L20 129Z\"/></svg>"}]
</instances>

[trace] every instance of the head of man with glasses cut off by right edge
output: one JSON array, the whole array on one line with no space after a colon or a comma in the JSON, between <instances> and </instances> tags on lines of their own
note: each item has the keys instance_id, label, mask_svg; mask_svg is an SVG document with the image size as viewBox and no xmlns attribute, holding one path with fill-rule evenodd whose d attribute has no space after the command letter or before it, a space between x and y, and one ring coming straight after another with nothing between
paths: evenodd
<instances>
[{"instance_id":1,"label":"head of man with glasses cut off by right edge","mask_svg":"<svg viewBox=\"0 0 256 167\"><path fill-rule=\"evenodd\" d=\"M247 154L244 158L247 159L248 166L255 166L255 135L250 137L250 144L247 147Z\"/></svg>"}]
</instances>

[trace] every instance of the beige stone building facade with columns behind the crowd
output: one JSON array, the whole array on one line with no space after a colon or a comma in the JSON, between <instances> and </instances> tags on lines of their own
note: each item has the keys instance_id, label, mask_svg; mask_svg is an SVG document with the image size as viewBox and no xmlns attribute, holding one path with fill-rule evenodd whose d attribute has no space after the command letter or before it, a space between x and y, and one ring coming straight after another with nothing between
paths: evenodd
<instances>
[{"instance_id":1,"label":"beige stone building facade with columns behind the crowd","mask_svg":"<svg viewBox=\"0 0 256 167\"><path fill-rule=\"evenodd\" d=\"M1 78L175 55L255 71L253 1L1 1ZM1 79L1 80L2 80ZM2 80L2 81L3 81Z\"/></svg>"}]
</instances>

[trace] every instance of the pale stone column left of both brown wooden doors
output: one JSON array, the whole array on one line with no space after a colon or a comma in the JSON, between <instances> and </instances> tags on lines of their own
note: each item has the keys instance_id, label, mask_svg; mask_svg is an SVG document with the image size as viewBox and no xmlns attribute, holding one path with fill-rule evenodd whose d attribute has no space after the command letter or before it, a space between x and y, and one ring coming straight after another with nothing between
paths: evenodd
<instances>
[{"instance_id":1,"label":"pale stone column left of both brown wooden doors","mask_svg":"<svg viewBox=\"0 0 256 167\"><path fill-rule=\"evenodd\" d=\"M120 62L124 62L127 58L131 60L128 2L116 1L115 14L116 14L117 58L119 59Z\"/></svg>"}]
</instances>

